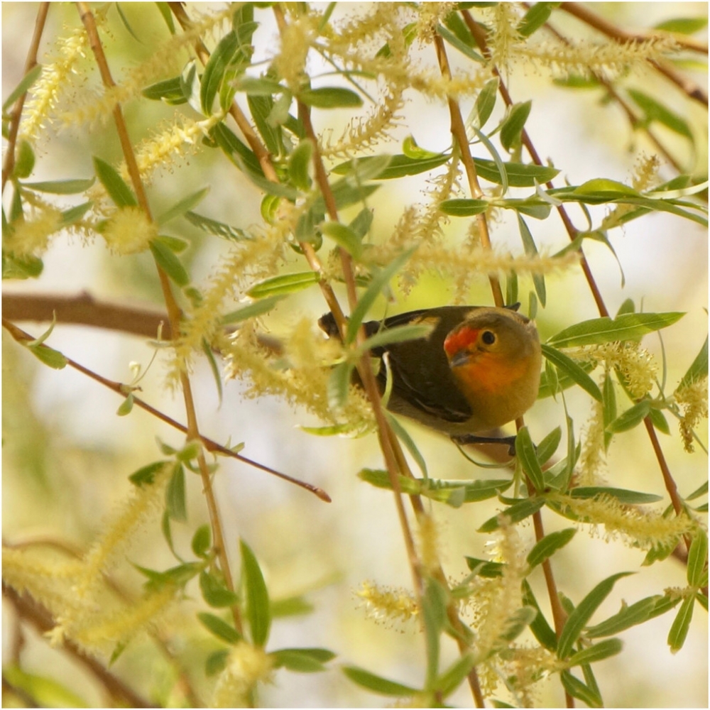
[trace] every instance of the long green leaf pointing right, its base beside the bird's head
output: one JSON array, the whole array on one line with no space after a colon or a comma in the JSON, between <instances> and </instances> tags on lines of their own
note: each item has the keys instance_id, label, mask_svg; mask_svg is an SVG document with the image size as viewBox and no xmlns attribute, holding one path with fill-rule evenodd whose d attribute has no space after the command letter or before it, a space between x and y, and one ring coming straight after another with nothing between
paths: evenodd
<instances>
[{"instance_id":1,"label":"long green leaf pointing right, its base beside the bird's head","mask_svg":"<svg viewBox=\"0 0 710 710\"><path fill-rule=\"evenodd\" d=\"M684 315L678 312L627 313L614 319L594 318L565 328L547 342L556 348L569 348L580 345L601 345L617 340L633 340L646 333L667 328Z\"/></svg>"}]
</instances>

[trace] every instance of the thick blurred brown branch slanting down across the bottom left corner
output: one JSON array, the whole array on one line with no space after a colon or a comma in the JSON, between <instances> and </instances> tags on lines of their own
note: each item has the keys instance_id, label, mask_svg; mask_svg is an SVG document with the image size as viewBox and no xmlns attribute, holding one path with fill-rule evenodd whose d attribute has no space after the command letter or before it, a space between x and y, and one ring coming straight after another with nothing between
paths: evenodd
<instances>
[{"instance_id":1,"label":"thick blurred brown branch slanting down across the bottom left corner","mask_svg":"<svg viewBox=\"0 0 710 710\"><path fill-rule=\"evenodd\" d=\"M35 601L29 594L19 594L11 586L6 586L3 582L2 594L8 599L15 608L18 616L27 623L30 623L38 633L45 634L55 627L55 621L51 613L42 606L38 601ZM98 660L87 656L84 652L71 640L65 639L62 641L64 648L69 655L79 661L94 677L102 684L106 691L119 700L121 704L127 707L135 708L152 708L157 707L151 704L148 700L136 693L131 687L119 677L111 673Z\"/></svg>"}]
</instances>

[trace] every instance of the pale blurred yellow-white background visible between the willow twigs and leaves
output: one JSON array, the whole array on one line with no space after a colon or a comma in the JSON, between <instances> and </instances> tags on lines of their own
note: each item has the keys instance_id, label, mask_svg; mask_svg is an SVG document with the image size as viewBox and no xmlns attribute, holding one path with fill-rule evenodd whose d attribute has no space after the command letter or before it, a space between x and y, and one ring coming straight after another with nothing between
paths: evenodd
<instances>
[{"instance_id":1,"label":"pale blurred yellow-white background visible between the willow twigs and leaves","mask_svg":"<svg viewBox=\"0 0 710 710\"><path fill-rule=\"evenodd\" d=\"M324 4L322 4L324 6ZM334 18L361 9L361 4L339 5ZM315 4L321 6L321 4ZM151 41L165 38L165 26L154 6L121 4L143 45L138 51L149 51ZM37 5L33 3L3 3L3 97L21 79L26 48L31 37ZM204 6L202 6L204 9ZM606 16L618 26L633 30L648 28L674 17L706 16L704 3L595 3L594 11ZM188 12L192 11L188 5ZM277 46L276 30L267 11L258 11L262 21L254 44L257 55L268 59ZM565 16L555 13L555 26L583 36L584 28ZM67 23L77 26L72 5L53 5L45 38L62 36ZM119 50L134 51L136 44L116 17L109 13L111 31ZM595 35L596 36L596 35ZM266 49L265 49L266 48ZM43 51L48 49L48 39ZM116 50L114 49L114 52ZM428 50L422 52L422 58ZM40 53L40 56L42 53ZM456 53L450 52L452 58ZM116 67L126 67L128 55L114 56ZM431 62L432 58L425 58ZM317 69L317 65L313 65ZM706 87L702 70L692 78ZM562 173L555 184L580 184L596 177L628 182L639 153L651 153L643 132L633 133L617 107L600 102L599 90L572 92L554 87L547 72L523 67L506 77L516 102L533 99L532 113L526 128L543 159L550 158ZM640 72L629 85L663 97L677 89L661 82L657 75ZM445 107L423 101L411 92L410 103L403 110L405 120L393 132L395 141L381 151L400 152L398 146L408 134L415 136L420 146L443 150L449 146L449 119ZM673 99L667 99L673 105ZM501 102L499 101L499 104ZM471 101L462 102L464 115ZM677 100L676 110L694 126L696 145L687 150L687 142L662 127L658 135L679 155L689 171L703 172L706 166L707 143L703 126L706 112L687 100ZM189 109L188 109L189 110ZM136 121L135 130L141 137L159 121L172 115L173 109L141 102L141 113L126 110L129 121ZM349 111L316 112L316 129L328 125L338 136L350 118ZM496 116L502 115L496 106ZM489 124L494 125L492 120ZM85 178L92 175L91 155L116 163L119 151L111 124L92 131L69 129L40 146L32 180L58 177ZM478 154L478 153L477 153ZM480 153L483 157L488 157ZM664 178L674 173L662 168ZM375 209L373 239L384 239L407 204L420 199L425 186L417 176L396 184L385 183L373 196ZM243 176L230 168L222 155L202 151L182 161L175 170L165 172L151 187L151 200L156 212L204 185L211 191L197 209L228 224L249 227L260 222L260 195ZM603 214L603 208L594 214ZM572 219L583 227L584 217L571 209ZM349 213L346 213L346 217ZM353 213L354 214L354 213ZM503 221L493 224L493 243L498 249L522 251L514 215L503 215ZM184 226L185 222L173 226ZM555 216L544 222L528 219L540 249L551 253L567 243L567 236ZM447 227L447 236L460 239L466 220L454 220ZM173 231L181 234L180 231ZM182 232L194 242L187 257L191 261L195 282L205 283L217 264L220 253L229 245L216 239L204 239L187 226ZM613 255L602 244L586 241L584 251L610 312L616 312L623 300L632 298L643 310L684 311L680 322L663 332L668 361L667 391L672 391L692 362L707 334L707 239L706 231L693 222L667 214L653 214L636 219L623 230L616 229L610 237L626 275L626 287L621 288L621 275ZM324 246L323 254L328 245ZM38 280L4 283L4 290L22 293L77 294L82 290L94 297L119 302L152 302L160 305L157 280L146 255L111 257L101 241L84 246L77 240L59 237L44 257L45 269ZM288 268L300 271L305 263L292 254ZM527 309L528 278L520 279L523 310ZM417 307L443 305L450 302L452 291L435 275L422 279L417 288L391 308L410 310ZM474 279L471 303L491 302L486 278ZM537 324L543 339L563 327L586 318L596 317L594 301L584 278L577 269L547 278L547 307L538 310ZM378 304L382 312L383 303ZM278 306L264 325L272 334L286 334L295 320L308 317L314 324L326 307L314 288L290 297ZM45 329L42 324L21 324L33 335ZM103 376L129 381L129 362L146 365L152 350L143 339L87 327L58 324L49 344ZM81 547L89 545L102 525L102 520L129 492L128 476L139 466L160 458L155 437L180 447L182 437L166 425L157 422L141 410L128 417L116 417L119 398L76 371L65 368L53 371L41 366L28 351L21 349L4 334L3 339L3 535L7 542L17 542L35 536L51 536ZM659 359L658 337L649 336L644 345ZM178 395L164 390L165 368L158 362L143 381L141 396L175 419L184 421L184 409ZM250 469L234 461L224 461L215 479L219 507L224 518L229 553L236 568L238 539L249 542L263 564L273 597L279 598L310 592L308 598L316 611L289 621L276 621L269 648L284 646L324 646L336 651L334 662L361 665L400 682L417 685L423 677L423 637L412 624L392 628L392 623L374 623L359 608L354 592L366 580L381 585L409 586L403 542L397 524L391 496L356 479L364 466L382 466L376 437L361 439L318 438L299 430L299 425L317 425L310 415L293 410L277 398L249 400L241 397L244 385L238 381L226 384L221 407L209 368L200 363L193 377L197 396L200 430L219 442L231 437L232 442L244 441L244 454L273 466L292 476L322 486L332 497L329 505L315 496L289 486L278 479ZM621 400L620 400L621 401ZM627 403L623 403L626 406ZM569 412L574 417L577 437L580 427L591 413L589 397L579 389L567 395ZM564 411L560 402L544 400L528 413L526 420L534 440L541 439L552 428L562 425ZM670 420L671 436L660 435L670 470L679 491L687 495L706 480L707 461L697 450L683 451L677 425ZM447 440L405 422L415 437L420 451L435 478L493 477L488 471L474 469L461 458ZM702 432L706 441L706 433ZM616 446L608 456L606 473L609 484L633 490L664 494L660 471L643 428L618 435ZM563 442L564 446L564 442ZM192 531L207 521L200 484L190 476L189 523L174 525L178 549L189 553ZM495 501L471 505L459 510L437 506L435 513L442 528L444 567L452 579L464 575L463 555L483 557L486 537L476 528L496 510ZM546 530L567 527L569 521L545 513ZM523 526L528 546L532 530ZM559 589L574 601L579 601L594 584L614 572L638 570L644 552L633 550L623 542L605 542L599 533L589 534L581 528L572 544L553 559ZM603 531L601 531L603 532ZM131 550L130 559L139 564L164 569L174 564L174 558L159 532L159 520L146 529L141 541ZM126 566L127 567L127 566ZM539 575L539 572L537 573ZM121 571L126 584L137 589L140 583L135 572ZM533 577L538 599L543 600L541 577ZM638 574L616 584L613 593L599 609L595 618L606 618L618 611L621 600L633 603L651 594L660 594L668 586L684 586L684 568L674 561L643 568ZM191 586L197 607L199 590ZM545 605L547 609L547 605ZM183 610L192 614L191 603ZM707 706L707 635L706 618L696 609L684 648L671 655L665 638L673 612L621 635L625 648L621 655L595 666L596 677L608 706L636 707L700 707ZM188 623L188 622L185 622ZM192 624L192 622L190 622ZM8 643L8 625L4 623L4 644ZM186 633L202 657L213 648L198 628ZM186 642L187 643L187 642ZM6 647L4 646L4 651ZM155 654L147 655L154 658ZM444 663L454 659L453 644L445 645ZM141 665L141 643L129 649L115 666L119 674L131 677L159 677L163 672L158 660L155 665ZM92 679L61 652L53 651L40 638L28 633L23 650L23 662L28 670L62 679L74 687L87 702L102 704ZM151 661L153 663L153 661ZM195 667L192 676L197 687L207 688L200 681L202 669ZM148 682L150 686L150 682ZM540 706L563 703L557 679L539 684ZM209 697L209 692L204 692ZM362 692L334 670L327 674L292 674L283 671L275 683L263 689L261 703L266 706L378 706L383 699ZM471 697L461 688L450 699L452 704L470 706Z\"/></svg>"}]
</instances>

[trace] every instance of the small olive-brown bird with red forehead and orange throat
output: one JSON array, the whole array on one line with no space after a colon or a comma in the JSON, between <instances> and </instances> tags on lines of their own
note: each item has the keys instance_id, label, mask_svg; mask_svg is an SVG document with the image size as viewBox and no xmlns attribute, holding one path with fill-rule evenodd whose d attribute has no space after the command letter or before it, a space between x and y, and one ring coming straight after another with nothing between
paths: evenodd
<instances>
[{"instance_id":1,"label":"small olive-brown bird with red forehead and orange throat","mask_svg":"<svg viewBox=\"0 0 710 710\"><path fill-rule=\"evenodd\" d=\"M510 444L514 437L474 435L517 419L537 398L540 339L518 307L442 306L365 323L368 337L405 324L433 327L426 338L372 349L384 360L377 375L381 391L392 378L388 410L459 443ZM318 324L329 337L339 337L332 313Z\"/></svg>"}]
</instances>

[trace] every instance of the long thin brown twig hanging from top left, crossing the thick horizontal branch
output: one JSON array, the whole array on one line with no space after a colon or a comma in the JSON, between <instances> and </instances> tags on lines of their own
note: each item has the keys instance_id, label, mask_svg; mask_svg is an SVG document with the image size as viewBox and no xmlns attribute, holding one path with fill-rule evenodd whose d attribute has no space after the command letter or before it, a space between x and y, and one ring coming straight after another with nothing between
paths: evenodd
<instances>
[{"instance_id":1,"label":"long thin brown twig hanging from top left, crossing the thick horizontal branch","mask_svg":"<svg viewBox=\"0 0 710 710\"><path fill-rule=\"evenodd\" d=\"M111 71L109 70L106 55L104 55L104 49L99 38L96 22L94 21L94 15L85 2L77 2L77 9L79 9L82 22L84 23L84 27L87 29L89 44L91 45L94 58L99 67L99 71L101 72L104 86L107 88L113 87L115 82L111 77ZM151 208L148 204L148 197L146 197L146 190L143 186L143 180L141 180L141 171L138 169L136 154L133 152L133 143L131 143L131 137L129 136L123 112L121 111L121 104L116 103L113 113L114 122L116 124L116 133L119 135L121 150L124 153L126 167L128 168L129 175L131 176L131 185L133 185L133 190L135 190L136 197L138 197L138 204L141 205L141 209L145 212L146 217L152 221ZM170 329L173 333L178 333L180 332L182 312L180 311L178 302L175 300L175 296L173 295L168 275L165 271L163 271L163 268L161 268L157 262L155 263L155 268L158 271L160 288L163 291L163 299L165 300L165 306L168 309ZM182 386L182 398L185 401L185 414L187 415L187 439L200 439L200 428L197 425L197 413L195 412L195 401L192 397L192 386L190 385L190 377L187 375L186 371L180 371L180 385ZM204 451L202 449L197 452L197 465L200 468L204 499L207 503L207 510L209 512L214 550L217 552L217 557L219 557L219 565L222 568L222 574L224 575L224 584L229 591L234 591L234 581L231 577L229 557L226 554L226 545L224 543L222 518L220 518L217 498L215 498L214 491L212 489L212 476L209 474L207 459L205 459ZM231 606L231 611L234 616L234 627L239 631L239 633L241 633L242 621L239 605L234 604Z\"/></svg>"}]
</instances>

